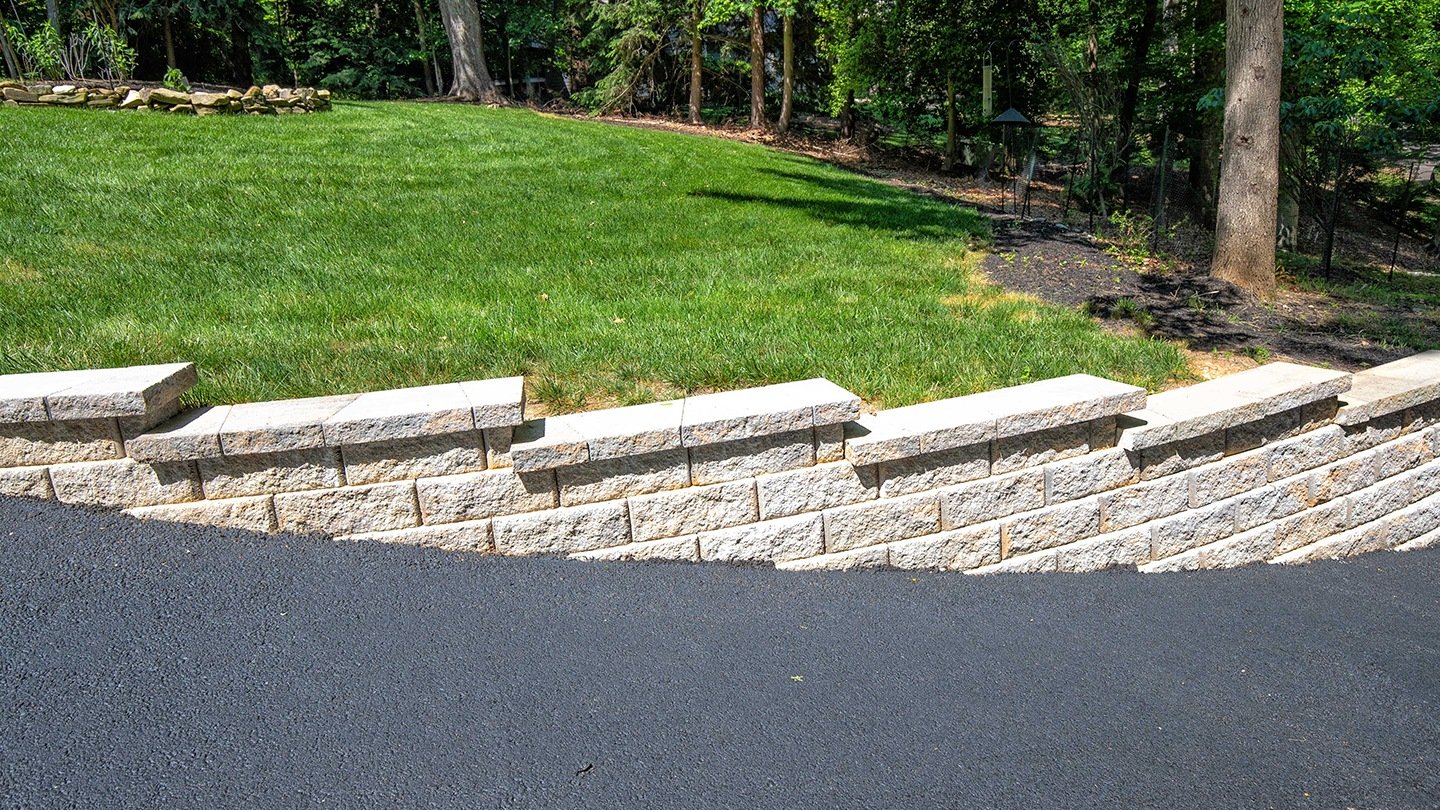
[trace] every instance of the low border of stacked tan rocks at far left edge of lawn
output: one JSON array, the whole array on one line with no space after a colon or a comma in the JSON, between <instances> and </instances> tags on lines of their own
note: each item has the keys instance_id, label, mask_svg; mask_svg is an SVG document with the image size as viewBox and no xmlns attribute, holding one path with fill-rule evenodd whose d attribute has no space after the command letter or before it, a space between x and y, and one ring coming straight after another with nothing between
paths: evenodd
<instances>
[{"instance_id":1,"label":"low border of stacked tan rocks at far left edge of lawn","mask_svg":"<svg viewBox=\"0 0 1440 810\"><path fill-rule=\"evenodd\" d=\"M0 98L6 107L92 107L177 112L181 115L217 115L222 112L279 115L323 112L330 110L330 91L314 88L252 86L243 92L179 91L164 86L84 86L73 84L22 84L0 79Z\"/></svg>"}]
</instances>

